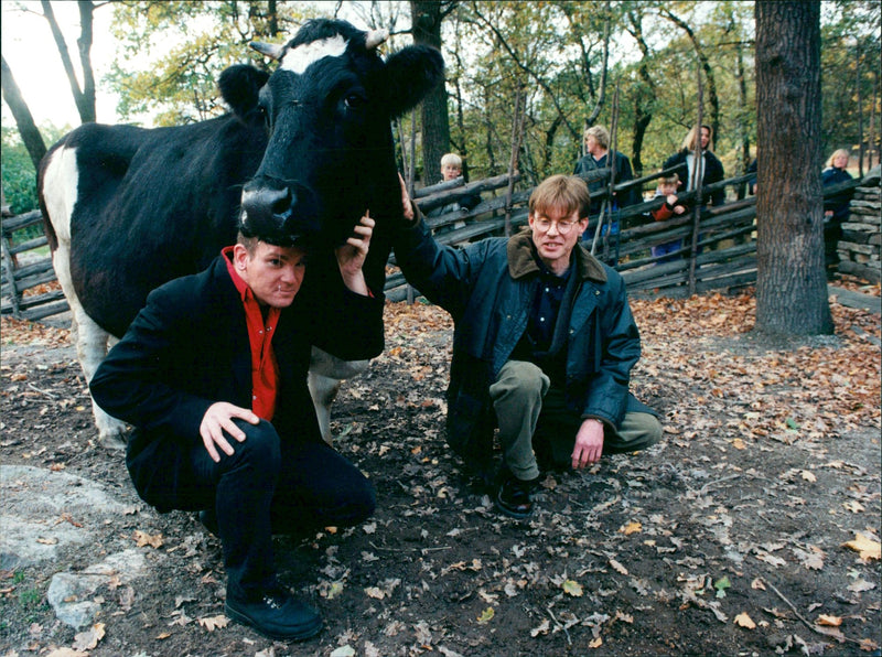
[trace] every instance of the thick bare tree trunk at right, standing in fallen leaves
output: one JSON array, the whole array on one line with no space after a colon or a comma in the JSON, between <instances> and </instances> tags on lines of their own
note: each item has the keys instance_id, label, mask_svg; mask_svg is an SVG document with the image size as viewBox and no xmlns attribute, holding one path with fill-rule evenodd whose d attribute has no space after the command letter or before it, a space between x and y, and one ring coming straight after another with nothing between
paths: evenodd
<instances>
[{"instance_id":1,"label":"thick bare tree trunk at right, standing in fallen leaves","mask_svg":"<svg viewBox=\"0 0 882 657\"><path fill-rule=\"evenodd\" d=\"M820 1L755 6L756 330L833 331L820 184Z\"/></svg>"}]
</instances>

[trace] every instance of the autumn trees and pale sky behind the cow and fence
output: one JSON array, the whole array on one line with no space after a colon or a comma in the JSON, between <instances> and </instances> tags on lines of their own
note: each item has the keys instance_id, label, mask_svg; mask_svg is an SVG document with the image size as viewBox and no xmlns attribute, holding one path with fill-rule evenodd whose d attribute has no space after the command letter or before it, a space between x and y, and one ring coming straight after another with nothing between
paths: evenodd
<instances>
[{"instance_id":1,"label":"autumn trees and pale sky behind the cow and fence","mask_svg":"<svg viewBox=\"0 0 882 657\"><path fill-rule=\"evenodd\" d=\"M223 68L270 66L249 41L286 41L305 19L322 15L388 29L389 50L413 41L442 50L445 87L396 126L402 143L416 144L422 184L438 182L435 162L448 150L465 158L466 179L505 173L517 127L527 185L571 172L583 129L595 123L614 123L617 150L632 158L637 175L650 173L693 125L699 76L711 148L727 175L742 173L756 155L753 2L86 1L78 3L78 32L66 33L52 28L54 4L4 1L4 22L14 12L46 18L45 35L15 37L55 40L57 52L41 47L34 61L64 66L82 122L155 127L218 116L225 111L216 87ZM99 12L112 14L109 31L93 34ZM820 152L869 153L852 161L853 173L879 160L881 14L878 2L821 3ZM93 40L112 42L110 61L92 61ZM4 34L4 51L8 43ZM17 75L32 74L19 74L4 55L3 192L12 212L22 213L36 203L33 150L29 157L9 114L8 85ZM100 94L116 98L116 116L96 116ZM47 148L73 127L44 122L35 130Z\"/></svg>"}]
</instances>

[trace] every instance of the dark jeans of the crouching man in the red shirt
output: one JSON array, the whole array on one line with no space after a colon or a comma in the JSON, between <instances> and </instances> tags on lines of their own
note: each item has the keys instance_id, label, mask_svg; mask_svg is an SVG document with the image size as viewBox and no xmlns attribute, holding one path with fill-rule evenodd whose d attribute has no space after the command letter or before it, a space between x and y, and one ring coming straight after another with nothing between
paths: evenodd
<instances>
[{"instance_id":1,"label":"dark jeans of the crouching man in the red shirt","mask_svg":"<svg viewBox=\"0 0 882 657\"><path fill-rule=\"evenodd\" d=\"M217 513L227 571L227 596L254 600L276 585L272 535L351 526L374 513L370 482L323 442L280 440L269 422L237 420L244 442L218 450L215 463L202 443L190 452L190 494ZM194 500L195 502L195 500Z\"/></svg>"}]
</instances>

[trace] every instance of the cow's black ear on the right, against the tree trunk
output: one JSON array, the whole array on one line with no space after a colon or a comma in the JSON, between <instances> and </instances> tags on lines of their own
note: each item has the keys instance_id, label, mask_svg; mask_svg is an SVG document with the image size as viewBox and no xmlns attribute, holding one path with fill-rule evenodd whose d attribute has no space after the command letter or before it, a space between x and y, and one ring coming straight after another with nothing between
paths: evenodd
<instances>
[{"instance_id":1,"label":"cow's black ear on the right, against the tree trunk","mask_svg":"<svg viewBox=\"0 0 882 657\"><path fill-rule=\"evenodd\" d=\"M428 45L409 45L387 57L384 75L389 114L399 117L444 80L444 58Z\"/></svg>"}]
</instances>

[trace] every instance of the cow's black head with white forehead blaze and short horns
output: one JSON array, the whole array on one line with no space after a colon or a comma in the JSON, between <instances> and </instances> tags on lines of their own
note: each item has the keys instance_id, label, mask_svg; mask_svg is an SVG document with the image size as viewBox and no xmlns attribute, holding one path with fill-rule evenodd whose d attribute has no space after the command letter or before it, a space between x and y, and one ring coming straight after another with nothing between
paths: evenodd
<instances>
[{"instance_id":1,"label":"cow's black head with white forehead blaze and short horns","mask_svg":"<svg viewBox=\"0 0 882 657\"><path fill-rule=\"evenodd\" d=\"M262 162L243 190L244 227L336 245L367 209L400 217L390 120L443 78L443 60L433 49L408 46L384 61L377 46L386 37L345 21L313 20L286 45L251 44L279 62L268 78L250 67L222 75L236 114L259 112L269 132Z\"/></svg>"}]
</instances>

